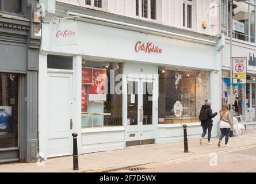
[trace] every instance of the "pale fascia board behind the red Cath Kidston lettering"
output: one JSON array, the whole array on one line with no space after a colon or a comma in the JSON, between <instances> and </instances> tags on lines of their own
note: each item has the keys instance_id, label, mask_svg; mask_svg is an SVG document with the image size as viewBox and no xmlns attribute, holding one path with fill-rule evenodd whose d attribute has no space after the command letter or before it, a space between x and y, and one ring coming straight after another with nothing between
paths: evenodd
<instances>
[{"instance_id":1,"label":"pale fascia board behind the red Cath Kidston lettering","mask_svg":"<svg viewBox=\"0 0 256 184\"><path fill-rule=\"evenodd\" d=\"M216 49L210 45L169 39L151 34L117 29L109 26L78 22L76 45L56 46L56 24L43 24L42 50L71 55L87 55L144 63L164 64L218 70ZM96 41L97 40L97 41ZM151 42L162 53L135 52L137 41ZM192 62L196 60L196 62Z\"/></svg>"}]
</instances>

